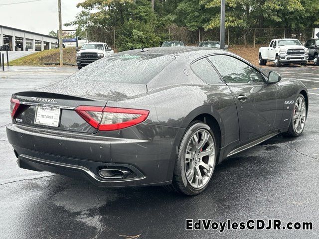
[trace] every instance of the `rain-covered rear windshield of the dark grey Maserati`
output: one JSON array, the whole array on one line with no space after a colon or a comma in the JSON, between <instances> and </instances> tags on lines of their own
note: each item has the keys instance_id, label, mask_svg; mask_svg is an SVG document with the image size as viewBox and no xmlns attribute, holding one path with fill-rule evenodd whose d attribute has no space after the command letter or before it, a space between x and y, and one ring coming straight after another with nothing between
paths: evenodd
<instances>
[{"instance_id":1,"label":"rain-covered rear windshield of the dark grey Maserati","mask_svg":"<svg viewBox=\"0 0 319 239\"><path fill-rule=\"evenodd\" d=\"M175 57L161 54L114 54L72 75L77 81L147 84Z\"/></svg>"}]
</instances>

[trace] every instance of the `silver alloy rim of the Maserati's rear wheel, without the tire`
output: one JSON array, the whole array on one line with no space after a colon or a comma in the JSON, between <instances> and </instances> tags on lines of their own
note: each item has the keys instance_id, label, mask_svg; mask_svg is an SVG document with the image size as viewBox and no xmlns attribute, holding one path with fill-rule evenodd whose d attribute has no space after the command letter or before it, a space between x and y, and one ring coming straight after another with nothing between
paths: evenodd
<instances>
[{"instance_id":1,"label":"silver alloy rim of the Maserati's rear wheel, without the tire","mask_svg":"<svg viewBox=\"0 0 319 239\"><path fill-rule=\"evenodd\" d=\"M215 144L206 129L198 129L191 136L185 153L185 174L188 183L201 189L208 183L215 166Z\"/></svg>"}]
</instances>

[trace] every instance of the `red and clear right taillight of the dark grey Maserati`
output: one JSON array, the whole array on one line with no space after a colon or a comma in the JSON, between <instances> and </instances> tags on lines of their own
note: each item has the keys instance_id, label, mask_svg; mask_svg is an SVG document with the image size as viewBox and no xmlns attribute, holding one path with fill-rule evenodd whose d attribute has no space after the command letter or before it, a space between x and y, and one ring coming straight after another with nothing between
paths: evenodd
<instances>
[{"instance_id":1,"label":"red and clear right taillight of the dark grey Maserati","mask_svg":"<svg viewBox=\"0 0 319 239\"><path fill-rule=\"evenodd\" d=\"M127 128L143 122L149 116L147 110L79 106L75 111L89 124L101 131Z\"/></svg>"}]
</instances>

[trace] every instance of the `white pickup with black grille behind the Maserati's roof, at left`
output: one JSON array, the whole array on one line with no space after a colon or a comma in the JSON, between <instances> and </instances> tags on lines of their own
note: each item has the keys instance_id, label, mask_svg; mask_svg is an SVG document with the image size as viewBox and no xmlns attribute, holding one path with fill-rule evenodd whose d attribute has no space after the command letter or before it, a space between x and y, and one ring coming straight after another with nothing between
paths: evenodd
<instances>
[{"instance_id":1,"label":"white pickup with black grille behind the Maserati's roof, at left","mask_svg":"<svg viewBox=\"0 0 319 239\"><path fill-rule=\"evenodd\" d=\"M114 54L114 51L106 43L103 42L90 42L85 43L81 50L76 53L76 64L79 70L94 61L102 59Z\"/></svg>"}]
</instances>

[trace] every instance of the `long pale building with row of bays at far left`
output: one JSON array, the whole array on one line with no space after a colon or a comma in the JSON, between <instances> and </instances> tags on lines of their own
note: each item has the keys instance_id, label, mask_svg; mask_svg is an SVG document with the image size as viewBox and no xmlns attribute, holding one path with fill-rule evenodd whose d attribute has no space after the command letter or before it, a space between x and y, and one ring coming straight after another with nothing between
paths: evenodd
<instances>
[{"instance_id":1,"label":"long pale building with row of bays at far left","mask_svg":"<svg viewBox=\"0 0 319 239\"><path fill-rule=\"evenodd\" d=\"M57 37L0 25L0 46L12 51L43 51L54 48Z\"/></svg>"}]
</instances>

